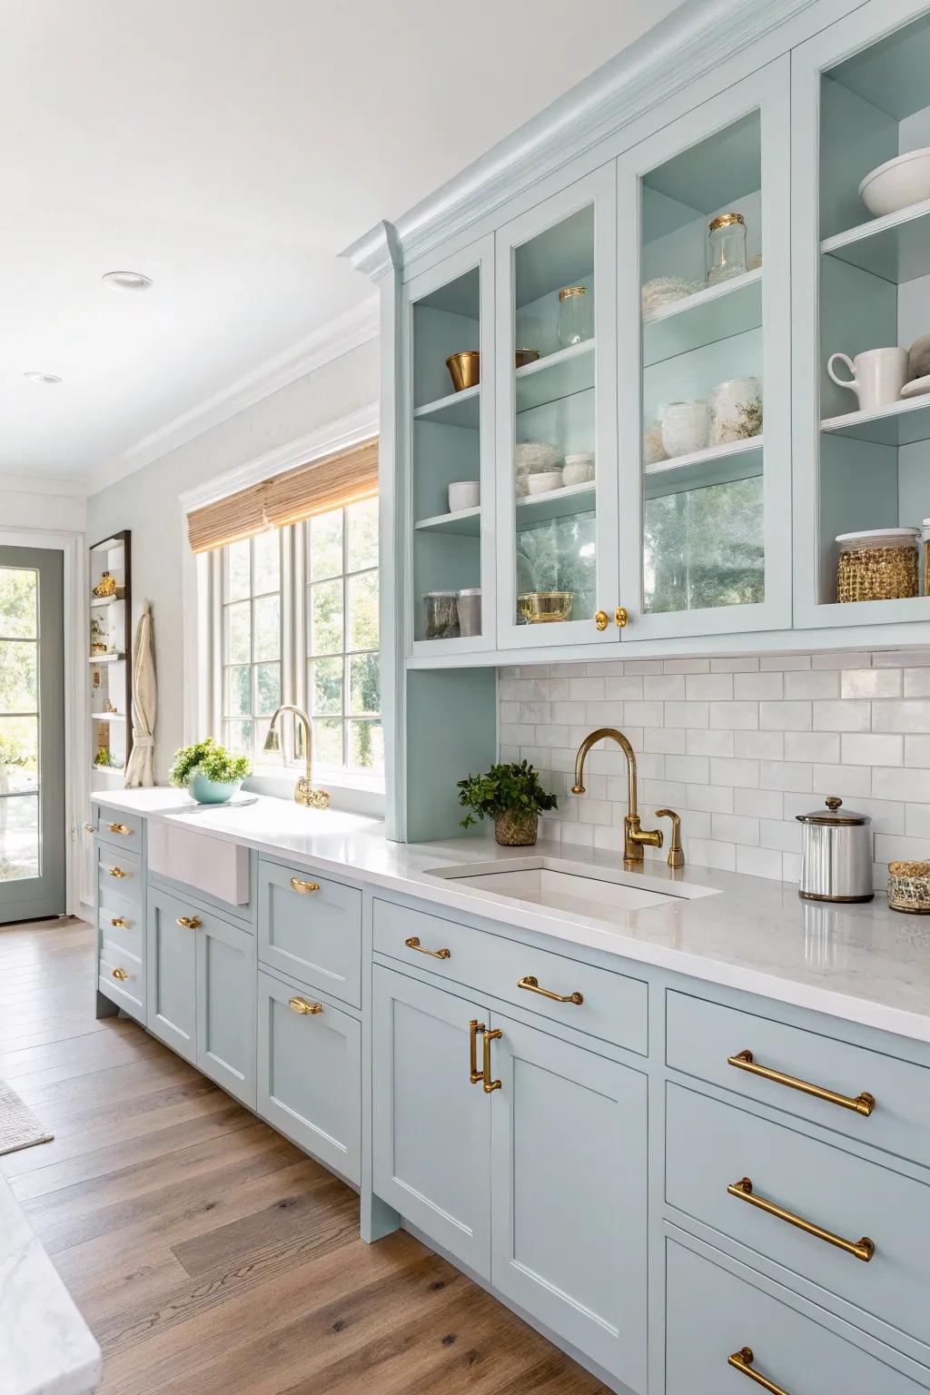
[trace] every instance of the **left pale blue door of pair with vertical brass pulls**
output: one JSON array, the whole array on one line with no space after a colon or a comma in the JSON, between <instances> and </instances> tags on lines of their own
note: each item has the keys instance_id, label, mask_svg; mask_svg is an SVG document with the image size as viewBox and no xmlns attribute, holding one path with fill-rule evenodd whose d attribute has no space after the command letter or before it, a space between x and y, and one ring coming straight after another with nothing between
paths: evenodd
<instances>
[{"instance_id":1,"label":"left pale blue door of pair with vertical brass pulls","mask_svg":"<svg viewBox=\"0 0 930 1395\"><path fill-rule=\"evenodd\" d=\"M372 979L375 1191L488 1278L494 1096L468 1059L468 1024L489 1025L487 1009L379 964Z\"/></svg>"}]
</instances>

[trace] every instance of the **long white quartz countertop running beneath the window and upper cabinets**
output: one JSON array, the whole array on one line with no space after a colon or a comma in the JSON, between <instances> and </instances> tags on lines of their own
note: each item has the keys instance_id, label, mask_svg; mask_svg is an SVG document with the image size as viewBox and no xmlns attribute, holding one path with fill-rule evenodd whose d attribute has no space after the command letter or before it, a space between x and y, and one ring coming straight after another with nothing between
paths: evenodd
<instances>
[{"instance_id":1,"label":"long white quartz countertop running beneath the window and upper cabinets","mask_svg":"<svg viewBox=\"0 0 930 1395\"><path fill-rule=\"evenodd\" d=\"M841 905L802 901L788 883L735 872L700 866L671 872L664 859L629 872L620 859L619 831L616 855L545 843L501 848L489 837L404 844L388 841L376 819L303 809L286 799L259 797L240 808L211 808L167 788L107 790L92 798L301 866L422 897L438 914L448 907L930 1042L930 917L891 911L881 891L874 901ZM431 875L452 864L505 865L527 857L570 862L579 872L605 869L644 890L678 891L679 897L648 910L604 907L594 917L516 903ZM683 898L689 883L719 894Z\"/></svg>"}]
</instances>

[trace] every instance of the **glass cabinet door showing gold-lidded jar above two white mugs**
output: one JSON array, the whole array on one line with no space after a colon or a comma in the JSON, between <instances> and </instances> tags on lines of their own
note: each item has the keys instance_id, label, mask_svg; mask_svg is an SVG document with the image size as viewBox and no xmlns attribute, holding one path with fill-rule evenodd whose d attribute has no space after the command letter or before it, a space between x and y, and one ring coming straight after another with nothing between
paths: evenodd
<instances>
[{"instance_id":1,"label":"glass cabinet door showing gold-lidded jar above two white mugs","mask_svg":"<svg viewBox=\"0 0 930 1395\"><path fill-rule=\"evenodd\" d=\"M618 162L625 638L791 624L789 63Z\"/></svg>"}]
</instances>

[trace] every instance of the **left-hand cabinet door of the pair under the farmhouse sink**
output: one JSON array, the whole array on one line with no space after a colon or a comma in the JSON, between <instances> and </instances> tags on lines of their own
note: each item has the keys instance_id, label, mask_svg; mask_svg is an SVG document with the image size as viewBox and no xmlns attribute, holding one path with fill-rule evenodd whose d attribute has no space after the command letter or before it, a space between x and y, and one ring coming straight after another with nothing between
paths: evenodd
<instances>
[{"instance_id":1,"label":"left-hand cabinet door of the pair under the farmhouse sink","mask_svg":"<svg viewBox=\"0 0 930 1395\"><path fill-rule=\"evenodd\" d=\"M148 890L146 1025L178 1056L197 1062L197 929L190 904Z\"/></svg>"}]
</instances>

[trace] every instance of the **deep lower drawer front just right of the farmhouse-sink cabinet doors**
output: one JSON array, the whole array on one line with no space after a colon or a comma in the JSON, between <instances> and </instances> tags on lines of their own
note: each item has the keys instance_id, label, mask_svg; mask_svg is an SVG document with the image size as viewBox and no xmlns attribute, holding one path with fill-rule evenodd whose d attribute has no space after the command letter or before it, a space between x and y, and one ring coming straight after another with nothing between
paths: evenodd
<instances>
[{"instance_id":1,"label":"deep lower drawer front just right of the farmhouse-sink cabinet doors","mask_svg":"<svg viewBox=\"0 0 930 1395\"><path fill-rule=\"evenodd\" d=\"M318 1011L312 1011L314 1007ZM258 1112L358 1186L361 1024L349 1013L319 1003L296 985L282 983L261 970Z\"/></svg>"}]
</instances>

